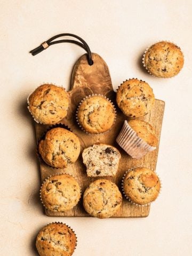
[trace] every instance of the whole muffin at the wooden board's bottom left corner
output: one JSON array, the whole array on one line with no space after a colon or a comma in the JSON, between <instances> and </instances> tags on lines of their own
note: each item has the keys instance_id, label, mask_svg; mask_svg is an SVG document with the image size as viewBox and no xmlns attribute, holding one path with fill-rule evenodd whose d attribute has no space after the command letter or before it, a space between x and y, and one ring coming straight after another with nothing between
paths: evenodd
<instances>
[{"instance_id":1,"label":"whole muffin at the wooden board's bottom left corner","mask_svg":"<svg viewBox=\"0 0 192 256\"><path fill-rule=\"evenodd\" d=\"M73 209L78 203L81 188L71 175L58 174L44 181L40 194L46 209L52 212L65 212Z\"/></svg>"}]
</instances>

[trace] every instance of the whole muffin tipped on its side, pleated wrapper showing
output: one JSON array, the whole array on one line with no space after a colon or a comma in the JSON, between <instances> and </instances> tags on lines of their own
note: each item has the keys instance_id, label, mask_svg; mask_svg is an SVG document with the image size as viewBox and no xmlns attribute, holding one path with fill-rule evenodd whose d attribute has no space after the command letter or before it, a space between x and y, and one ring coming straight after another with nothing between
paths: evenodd
<instances>
[{"instance_id":1,"label":"whole muffin tipped on its side, pleated wrapper showing","mask_svg":"<svg viewBox=\"0 0 192 256\"><path fill-rule=\"evenodd\" d=\"M136 159L155 150L158 144L153 126L139 119L125 121L116 141L127 154Z\"/></svg>"}]
</instances>

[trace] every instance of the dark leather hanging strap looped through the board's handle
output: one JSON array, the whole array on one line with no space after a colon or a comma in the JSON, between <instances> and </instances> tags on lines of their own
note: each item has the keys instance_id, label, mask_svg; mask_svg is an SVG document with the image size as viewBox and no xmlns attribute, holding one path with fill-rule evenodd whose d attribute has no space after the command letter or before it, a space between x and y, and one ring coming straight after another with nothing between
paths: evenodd
<instances>
[{"instance_id":1,"label":"dark leather hanging strap looped through the board's handle","mask_svg":"<svg viewBox=\"0 0 192 256\"><path fill-rule=\"evenodd\" d=\"M54 41L55 39L57 39L58 37L61 37L61 36L75 37L81 42L71 40L71 39L61 39L58 41ZM59 44L59 43L73 43L73 44L77 44L77 45L81 46L87 52L87 61L88 61L89 65L93 65L93 60L92 60L91 50L90 50L89 45L87 45L87 43L81 37L76 36L74 34L69 34L69 33L63 33L63 34L59 34L59 35L51 37L50 39L48 39L47 41L45 41L44 43L42 43L35 49L31 50L30 53L34 56L34 55L42 52L43 50L47 49L50 45Z\"/></svg>"}]
</instances>

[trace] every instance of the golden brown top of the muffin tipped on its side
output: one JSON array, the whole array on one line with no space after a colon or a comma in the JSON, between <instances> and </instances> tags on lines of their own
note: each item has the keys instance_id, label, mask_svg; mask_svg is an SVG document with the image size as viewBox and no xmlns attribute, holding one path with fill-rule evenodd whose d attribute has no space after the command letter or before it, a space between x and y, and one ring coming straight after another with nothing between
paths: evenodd
<instances>
[{"instance_id":1,"label":"golden brown top of the muffin tipped on its side","mask_svg":"<svg viewBox=\"0 0 192 256\"><path fill-rule=\"evenodd\" d=\"M150 146L157 147L158 140L153 126L139 119L132 119L128 124L141 139L147 142Z\"/></svg>"}]
</instances>

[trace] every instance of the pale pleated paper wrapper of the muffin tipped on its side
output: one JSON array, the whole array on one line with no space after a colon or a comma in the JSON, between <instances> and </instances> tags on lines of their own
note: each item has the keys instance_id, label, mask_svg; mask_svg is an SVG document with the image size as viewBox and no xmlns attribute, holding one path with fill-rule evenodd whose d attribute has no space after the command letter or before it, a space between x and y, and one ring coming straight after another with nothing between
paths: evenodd
<instances>
[{"instance_id":1,"label":"pale pleated paper wrapper of the muffin tipped on its side","mask_svg":"<svg viewBox=\"0 0 192 256\"><path fill-rule=\"evenodd\" d=\"M156 147L150 146L141 139L125 120L121 132L116 139L118 145L125 150L132 158L140 159Z\"/></svg>"}]
</instances>

